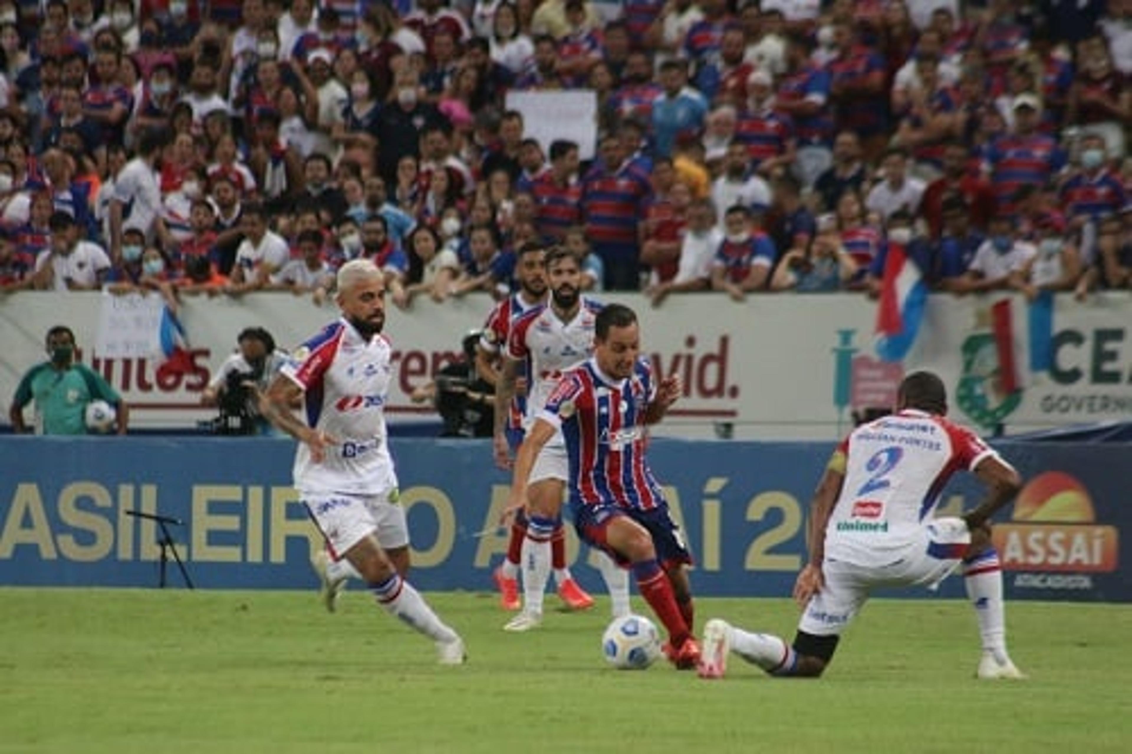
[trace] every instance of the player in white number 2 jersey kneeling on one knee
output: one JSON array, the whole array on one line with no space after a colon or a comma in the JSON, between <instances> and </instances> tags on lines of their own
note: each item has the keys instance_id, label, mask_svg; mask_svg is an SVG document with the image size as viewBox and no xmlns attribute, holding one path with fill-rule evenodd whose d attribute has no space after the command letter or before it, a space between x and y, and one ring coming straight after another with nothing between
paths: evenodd
<instances>
[{"instance_id":1,"label":"player in white number 2 jersey kneeling on one knee","mask_svg":"<svg viewBox=\"0 0 1132 754\"><path fill-rule=\"evenodd\" d=\"M960 566L983 639L977 677L1024 677L1006 652L989 524L1021 480L946 413L943 382L914 372L900 385L894 414L858 427L838 446L811 506L809 563L794 588L803 609L794 643L709 620L701 677L722 677L729 651L772 676L820 676L874 588L933 588ZM947 480L964 470L986 483L986 499L961 519L934 519Z\"/></svg>"}]
</instances>

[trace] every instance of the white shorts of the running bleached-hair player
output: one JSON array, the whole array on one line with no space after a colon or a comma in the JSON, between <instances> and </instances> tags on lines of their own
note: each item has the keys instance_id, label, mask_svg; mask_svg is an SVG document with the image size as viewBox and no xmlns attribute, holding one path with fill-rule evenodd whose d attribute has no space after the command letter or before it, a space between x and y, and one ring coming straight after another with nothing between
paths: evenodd
<instances>
[{"instance_id":1,"label":"white shorts of the running bleached-hair player","mask_svg":"<svg viewBox=\"0 0 1132 754\"><path fill-rule=\"evenodd\" d=\"M302 502L335 558L371 533L385 550L409 545L409 524L396 488L377 495L305 494Z\"/></svg>"}]
</instances>

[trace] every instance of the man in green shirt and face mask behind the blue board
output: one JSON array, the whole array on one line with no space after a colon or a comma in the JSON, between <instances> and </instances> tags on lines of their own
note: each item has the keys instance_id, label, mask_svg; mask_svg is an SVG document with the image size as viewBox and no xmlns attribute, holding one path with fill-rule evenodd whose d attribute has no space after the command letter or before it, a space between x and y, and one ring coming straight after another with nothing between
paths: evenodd
<instances>
[{"instance_id":1,"label":"man in green shirt and face mask behind the blue board","mask_svg":"<svg viewBox=\"0 0 1132 754\"><path fill-rule=\"evenodd\" d=\"M75 361L75 333L57 325L48 331L49 361L32 367L19 380L8 417L16 434L33 431L24 422L24 406L35 401L35 427L40 435L86 435L86 406L105 401L118 412L118 434L129 423L126 402L102 375Z\"/></svg>"}]
</instances>

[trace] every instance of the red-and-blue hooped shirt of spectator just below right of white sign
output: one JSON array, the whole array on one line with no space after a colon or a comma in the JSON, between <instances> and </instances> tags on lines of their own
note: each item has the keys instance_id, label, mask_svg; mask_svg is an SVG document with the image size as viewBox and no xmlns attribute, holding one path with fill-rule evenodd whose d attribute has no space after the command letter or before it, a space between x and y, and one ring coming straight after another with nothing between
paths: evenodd
<instances>
[{"instance_id":1,"label":"red-and-blue hooped shirt of spectator just below right of white sign","mask_svg":"<svg viewBox=\"0 0 1132 754\"><path fill-rule=\"evenodd\" d=\"M649 175L624 163L616 171L598 164L582 181L582 214L594 243L637 245L637 219L644 214L652 185Z\"/></svg>"}]
</instances>

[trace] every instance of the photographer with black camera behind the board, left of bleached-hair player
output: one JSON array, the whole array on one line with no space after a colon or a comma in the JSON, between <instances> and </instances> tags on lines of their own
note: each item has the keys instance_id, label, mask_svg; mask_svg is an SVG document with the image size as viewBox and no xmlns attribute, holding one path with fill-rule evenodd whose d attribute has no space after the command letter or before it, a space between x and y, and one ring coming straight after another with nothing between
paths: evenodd
<instances>
[{"instance_id":1,"label":"photographer with black camera behind the board, left of bleached-hair player","mask_svg":"<svg viewBox=\"0 0 1132 754\"><path fill-rule=\"evenodd\" d=\"M263 327L248 327L235 340L240 350L224 360L200 396L205 405L220 409L211 429L217 435L272 435L259 414L259 396L288 355Z\"/></svg>"}]
</instances>

